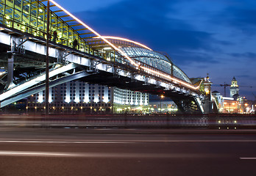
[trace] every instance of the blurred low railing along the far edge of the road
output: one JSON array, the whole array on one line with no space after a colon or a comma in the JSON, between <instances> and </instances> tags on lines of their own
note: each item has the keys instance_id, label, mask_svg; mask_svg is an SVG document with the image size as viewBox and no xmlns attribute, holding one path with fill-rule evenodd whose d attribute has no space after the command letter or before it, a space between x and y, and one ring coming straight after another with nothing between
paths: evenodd
<instances>
[{"instance_id":1,"label":"blurred low railing along the far edge of the road","mask_svg":"<svg viewBox=\"0 0 256 176\"><path fill-rule=\"evenodd\" d=\"M219 122L221 120L221 123ZM0 114L0 126L256 129L252 114Z\"/></svg>"}]
</instances>

